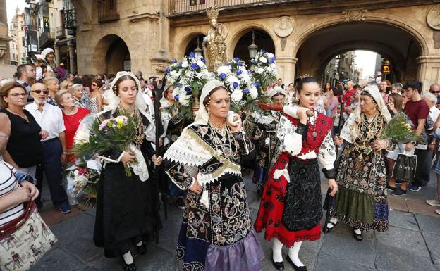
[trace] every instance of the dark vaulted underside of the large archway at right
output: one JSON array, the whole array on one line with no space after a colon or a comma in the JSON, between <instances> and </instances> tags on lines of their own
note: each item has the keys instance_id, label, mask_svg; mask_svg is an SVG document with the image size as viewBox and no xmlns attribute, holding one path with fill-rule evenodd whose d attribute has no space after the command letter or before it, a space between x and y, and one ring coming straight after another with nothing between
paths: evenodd
<instances>
[{"instance_id":1,"label":"dark vaulted underside of the large archway at right","mask_svg":"<svg viewBox=\"0 0 440 271\"><path fill-rule=\"evenodd\" d=\"M417 57L422 46L410 32L378 22L343 23L312 32L299 47L295 77L310 74L326 77L327 65L335 56L348 51L368 50L379 53L393 65L393 82L417 80Z\"/></svg>"}]
</instances>

